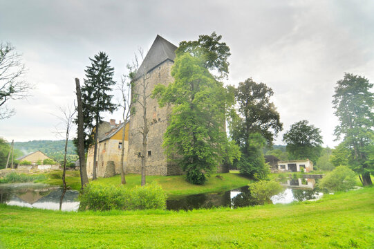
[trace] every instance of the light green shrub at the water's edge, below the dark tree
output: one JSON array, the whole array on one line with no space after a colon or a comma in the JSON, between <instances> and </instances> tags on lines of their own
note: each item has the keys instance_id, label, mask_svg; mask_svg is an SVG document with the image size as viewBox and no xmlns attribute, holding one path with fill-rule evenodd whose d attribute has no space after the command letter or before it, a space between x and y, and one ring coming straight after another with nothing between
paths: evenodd
<instances>
[{"instance_id":1,"label":"light green shrub at the water's edge, below the dark tree","mask_svg":"<svg viewBox=\"0 0 374 249\"><path fill-rule=\"evenodd\" d=\"M271 203L270 197L283 191L283 187L276 181L258 181L248 184L252 199L257 204Z\"/></svg>"}]
</instances>

